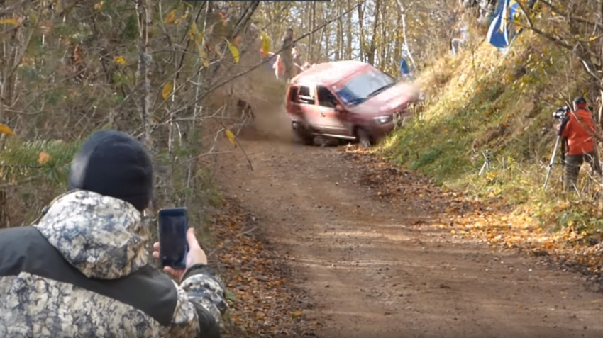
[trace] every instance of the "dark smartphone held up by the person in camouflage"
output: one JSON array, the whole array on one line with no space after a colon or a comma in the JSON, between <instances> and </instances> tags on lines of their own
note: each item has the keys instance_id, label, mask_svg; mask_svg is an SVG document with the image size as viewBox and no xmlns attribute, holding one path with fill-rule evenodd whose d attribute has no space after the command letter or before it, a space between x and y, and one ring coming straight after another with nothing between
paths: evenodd
<instances>
[{"instance_id":1,"label":"dark smartphone held up by the person in camouflage","mask_svg":"<svg viewBox=\"0 0 603 338\"><path fill-rule=\"evenodd\" d=\"M159 234L159 260L162 266L184 269L187 266L187 210L170 208L159 210L157 215Z\"/></svg>"}]
</instances>

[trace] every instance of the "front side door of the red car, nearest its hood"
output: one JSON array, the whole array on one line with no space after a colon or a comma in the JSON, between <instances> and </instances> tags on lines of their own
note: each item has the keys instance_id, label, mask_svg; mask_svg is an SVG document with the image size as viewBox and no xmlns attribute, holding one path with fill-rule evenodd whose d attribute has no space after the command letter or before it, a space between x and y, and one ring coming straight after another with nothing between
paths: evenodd
<instances>
[{"instance_id":1,"label":"front side door of the red car, nearest its hood","mask_svg":"<svg viewBox=\"0 0 603 338\"><path fill-rule=\"evenodd\" d=\"M348 115L338 113L335 107L338 104L338 100L333 93L326 88L326 86L316 86L316 97L318 98L317 110L320 116L321 130L323 133L333 135L348 135Z\"/></svg>"}]
</instances>

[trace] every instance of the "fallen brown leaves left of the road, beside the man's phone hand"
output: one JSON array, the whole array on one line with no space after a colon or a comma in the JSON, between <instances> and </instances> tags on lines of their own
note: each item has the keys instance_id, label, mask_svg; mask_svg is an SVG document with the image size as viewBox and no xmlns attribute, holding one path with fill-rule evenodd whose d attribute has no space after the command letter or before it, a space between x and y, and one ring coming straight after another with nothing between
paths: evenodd
<instances>
[{"instance_id":1,"label":"fallen brown leaves left of the road, beside the man's phone hand","mask_svg":"<svg viewBox=\"0 0 603 338\"><path fill-rule=\"evenodd\" d=\"M216 240L207 254L218 261L229 311L225 337L311 337L319 323L306 318L313 304L294 285L289 265L236 198L211 217Z\"/></svg>"}]
</instances>

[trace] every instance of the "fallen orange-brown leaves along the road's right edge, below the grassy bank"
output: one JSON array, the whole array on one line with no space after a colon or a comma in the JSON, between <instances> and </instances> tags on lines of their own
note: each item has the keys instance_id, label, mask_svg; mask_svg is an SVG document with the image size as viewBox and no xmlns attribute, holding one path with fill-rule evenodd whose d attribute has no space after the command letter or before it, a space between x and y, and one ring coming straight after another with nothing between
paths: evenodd
<instances>
[{"instance_id":1,"label":"fallen orange-brown leaves along the road's right edge, below the grassy bank","mask_svg":"<svg viewBox=\"0 0 603 338\"><path fill-rule=\"evenodd\" d=\"M543 259L564 271L580 272L603 291L603 234L568 226L552 231L538 225L535 215L514 213L502 198L477 200L461 191L436 186L431 179L358 147L339 150L357 164L358 184L373 197L399 210L415 210L428 224L458 238L480 240L496 249L515 249ZM553 225L551 225L551 228Z\"/></svg>"}]
</instances>

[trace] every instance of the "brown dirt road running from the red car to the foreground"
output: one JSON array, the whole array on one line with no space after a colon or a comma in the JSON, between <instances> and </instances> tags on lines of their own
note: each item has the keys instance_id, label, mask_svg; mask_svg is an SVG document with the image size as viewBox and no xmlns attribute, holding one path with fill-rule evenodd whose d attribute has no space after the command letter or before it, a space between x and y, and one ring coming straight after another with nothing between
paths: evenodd
<instances>
[{"instance_id":1,"label":"brown dirt road running from the red car to the foreground","mask_svg":"<svg viewBox=\"0 0 603 338\"><path fill-rule=\"evenodd\" d=\"M335 149L243 145L254 171L223 157L223 190L292 264L321 337L603 337L602 295L581 276L438 232L436 206L369 198Z\"/></svg>"}]
</instances>

